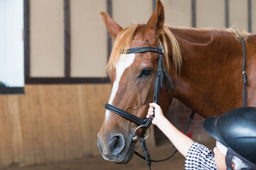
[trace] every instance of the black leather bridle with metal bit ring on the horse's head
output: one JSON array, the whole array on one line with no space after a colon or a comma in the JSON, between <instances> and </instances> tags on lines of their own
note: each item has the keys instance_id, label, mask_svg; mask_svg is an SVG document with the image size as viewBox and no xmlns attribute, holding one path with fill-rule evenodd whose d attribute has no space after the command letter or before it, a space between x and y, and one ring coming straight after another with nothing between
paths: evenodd
<instances>
[{"instance_id":1,"label":"black leather bridle with metal bit ring on the horse's head","mask_svg":"<svg viewBox=\"0 0 256 170\"><path fill-rule=\"evenodd\" d=\"M161 47L161 43L159 42L159 47L134 47L134 48L129 48L127 49L127 52L125 54L132 54L132 53L142 53L142 52L157 52L159 53L159 63L158 63L158 67L157 67L157 72L156 72L156 80L155 80L155 84L154 84L154 97L153 97L153 102L154 103L159 103L159 90L160 90L160 86L161 88L164 88L164 79L166 81L166 86L169 92L169 98L171 98L171 92L169 91L169 84L171 84L171 88L173 90L175 90L175 86L174 86L174 82L171 81L171 78L168 74L168 72L166 71L166 68L164 67L164 60L163 60L163 55L164 55L164 50ZM169 81L169 84L168 84ZM112 106L109 103L105 104L105 108L113 113L116 113L117 115L122 116L123 118L126 118L127 120L130 120L134 123L136 123L137 125L139 125L135 130L134 130L134 136L132 138L132 142L137 142L137 140L139 140L141 146L142 146L142 150L144 152L144 156L142 156L141 154L139 154L138 152L134 151L134 154L137 154L138 157L141 157L142 159L146 160L146 164L149 166L149 169L151 169L151 162L163 162L169 158L171 158L172 156L174 156L174 154L178 151L177 149L174 150L174 152L167 157L166 159L161 159L161 160L152 160L150 157L150 154L146 148L146 138L149 137L151 129L150 129L150 125L152 123L152 120L154 118L154 115L152 115L150 118L146 118L146 119L142 119L137 117L136 115L133 115L131 113L128 113L127 111L123 111L120 108L117 108L115 106ZM195 113L192 111L191 116L188 120L188 124L186 125L186 130L184 131L184 133L186 134L186 132L188 131L189 125L191 124L191 121L193 120L193 115ZM139 130L139 128L143 129L142 132L142 137L138 137L136 135L137 130ZM149 128L149 135L146 136L146 130ZM145 137L146 136L146 137Z\"/></svg>"}]
</instances>

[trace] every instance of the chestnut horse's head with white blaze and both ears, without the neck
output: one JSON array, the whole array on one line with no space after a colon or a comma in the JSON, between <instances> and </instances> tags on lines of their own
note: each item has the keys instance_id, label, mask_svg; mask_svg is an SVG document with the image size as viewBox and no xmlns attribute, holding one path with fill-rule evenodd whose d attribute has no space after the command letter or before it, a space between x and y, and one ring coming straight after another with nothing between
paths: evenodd
<instances>
[{"instance_id":1,"label":"chestnut horse's head with white blaze and both ears, without the neck","mask_svg":"<svg viewBox=\"0 0 256 170\"><path fill-rule=\"evenodd\" d=\"M164 6L161 1L157 1L156 10L146 25L136 24L124 29L107 13L101 12L101 15L114 40L106 68L112 84L108 103L144 119L149 103L153 99L159 54L156 52L127 54L127 48L158 47L161 42L164 55L168 55L167 40L164 38ZM167 68L171 67L168 57L165 57L165 64ZM166 87L161 90L161 98L159 98L164 111L172 100L166 91ZM102 157L119 164L129 162L134 152L135 142L132 142L132 137L136 128L136 123L106 111L97 140ZM139 133L141 132L138 131Z\"/></svg>"}]
</instances>

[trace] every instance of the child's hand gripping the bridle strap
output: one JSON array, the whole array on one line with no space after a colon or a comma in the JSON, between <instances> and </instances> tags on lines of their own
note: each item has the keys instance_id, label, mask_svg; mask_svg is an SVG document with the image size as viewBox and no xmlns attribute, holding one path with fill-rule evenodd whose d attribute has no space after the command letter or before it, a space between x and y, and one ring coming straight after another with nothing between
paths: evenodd
<instances>
[{"instance_id":1,"label":"child's hand gripping the bridle strap","mask_svg":"<svg viewBox=\"0 0 256 170\"><path fill-rule=\"evenodd\" d=\"M154 114L154 108L155 108L155 115L154 115L154 119L152 120L152 124L158 125L159 122L161 122L162 118L165 118L164 113L158 104L149 103L149 111L146 115L146 118L150 118L150 116Z\"/></svg>"}]
</instances>

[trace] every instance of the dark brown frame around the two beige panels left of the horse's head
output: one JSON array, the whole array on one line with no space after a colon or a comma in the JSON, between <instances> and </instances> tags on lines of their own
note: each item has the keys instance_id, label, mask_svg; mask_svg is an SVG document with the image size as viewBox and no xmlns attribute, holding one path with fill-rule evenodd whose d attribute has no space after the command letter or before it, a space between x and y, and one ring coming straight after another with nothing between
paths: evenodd
<instances>
[{"instance_id":1,"label":"dark brown frame around the two beige panels left of the horse's head","mask_svg":"<svg viewBox=\"0 0 256 170\"><path fill-rule=\"evenodd\" d=\"M25 84L109 84L109 77L70 77L70 0L64 1L64 77L31 77L30 74L30 0L24 3L24 74ZM112 16L112 0L107 0L107 12ZM107 59L111 39L107 38Z\"/></svg>"}]
</instances>

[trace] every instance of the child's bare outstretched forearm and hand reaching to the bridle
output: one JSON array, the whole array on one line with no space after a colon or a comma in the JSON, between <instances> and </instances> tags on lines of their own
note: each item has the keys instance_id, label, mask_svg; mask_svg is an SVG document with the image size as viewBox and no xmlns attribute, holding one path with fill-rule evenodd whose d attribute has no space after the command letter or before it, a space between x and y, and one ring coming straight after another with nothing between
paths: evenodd
<instances>
[{"instance_id":1,"label":"child's bare outstretched forearm and hand reaching to the bridle","mask_svg":"<svg viewBox=\"0 0 256 170\"><path fill-rule=\"evenodd\" d=\"M155 108L155 117L152 120L152 123L156 125L164 135L171 140L173 145L178 149L178 152L181 152L184 157L188 153L188 149L193 145L194 141L191 140L188 136L184 135L181 131L177 130L174 125L172 125L169 120L164 117L163 111L156 103L149 103L149 112L146 115L146 118L149 118L150 115L153 115L153 109Z\"/></svg>"}]
</instances>

